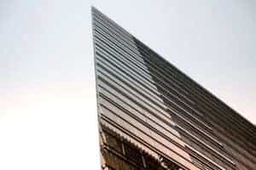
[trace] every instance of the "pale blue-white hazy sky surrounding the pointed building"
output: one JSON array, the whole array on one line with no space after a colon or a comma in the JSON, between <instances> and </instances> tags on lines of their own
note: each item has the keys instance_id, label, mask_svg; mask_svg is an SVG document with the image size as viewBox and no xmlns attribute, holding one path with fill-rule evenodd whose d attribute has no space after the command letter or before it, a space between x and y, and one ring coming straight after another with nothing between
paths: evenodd
<instances>
[{"instance_id":1,"label":"pale blue-white hazy sky surrounding the pointed building","mask_svg":"<svg viewBox=\"0 0 256 170\"><path fill-rule=\"evenodd\" d=\"M0 1L0 169L99 168L90 7L256 124L256 3Z\"/></svg>"}]
</instances>

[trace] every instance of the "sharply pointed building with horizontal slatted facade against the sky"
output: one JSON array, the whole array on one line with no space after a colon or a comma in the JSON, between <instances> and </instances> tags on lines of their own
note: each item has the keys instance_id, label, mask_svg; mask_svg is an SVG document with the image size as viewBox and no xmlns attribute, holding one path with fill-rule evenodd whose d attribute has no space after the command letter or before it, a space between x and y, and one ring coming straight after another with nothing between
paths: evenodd
<instances>
[{"instance_id":1,"label":"sharply pointed building with horizontal slatted facade against the sky","mask_svg":"<svg viewBox=\"0 0 256 170\"><path fill-rule=\"evenodd\" d=\"M102 169L255 170L256 128L92 8Z\"/></svg>"}]
</instances>

